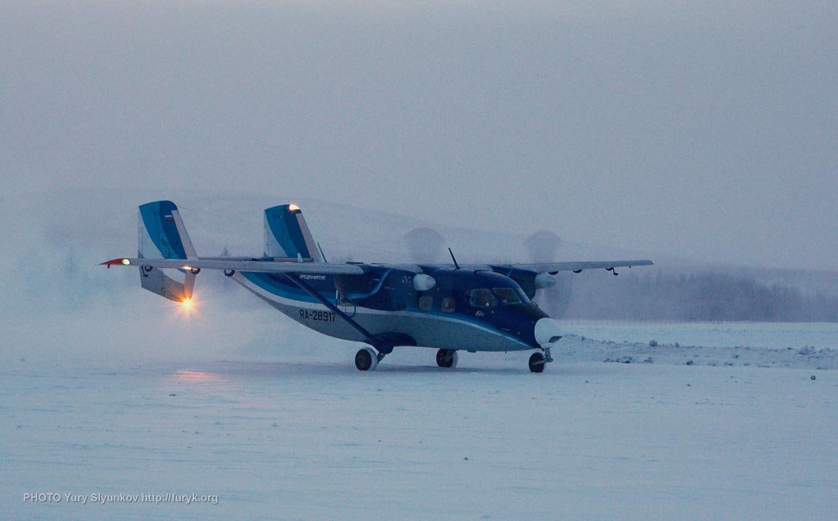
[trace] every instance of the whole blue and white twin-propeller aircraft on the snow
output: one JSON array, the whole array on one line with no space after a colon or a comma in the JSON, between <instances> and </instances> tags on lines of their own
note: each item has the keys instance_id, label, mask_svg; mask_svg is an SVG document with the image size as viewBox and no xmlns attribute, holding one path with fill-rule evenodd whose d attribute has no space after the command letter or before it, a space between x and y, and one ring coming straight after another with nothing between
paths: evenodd
<instances>
[{"instance_id":1,"label":"whole blue and white twin-propeller aircraft on the snow","mask_svg":"<svg viewBox=\"0 0 838 521\"><path fill-rule=\"evenodd\" d=\"M288 317L330 337L370 344L355 354L361 371L375 369L397 346L437 348L437 365L453 368L457 351L529 351L530 371L551 362L559 326L535 302L559 271L649 266L651 260L544 264L453 265L327 262L296 204L265 210L261 258L199 257L178 207L139 207L137 258L103 266L137 266L143 288L189 307L195 276L220 270ZM449 250L450 251L450 250ZM180 282L163 270L179 271ZM177 273L173 273L178 276Z\"/></svg>"}]
</instances>

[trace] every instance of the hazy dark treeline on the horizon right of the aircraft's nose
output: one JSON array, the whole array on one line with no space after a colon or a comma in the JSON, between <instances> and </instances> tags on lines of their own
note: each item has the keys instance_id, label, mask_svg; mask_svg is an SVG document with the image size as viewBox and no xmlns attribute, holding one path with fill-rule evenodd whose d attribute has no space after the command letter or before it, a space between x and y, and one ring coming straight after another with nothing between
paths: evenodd
<instances>
[{"instance_id":1,"label":"hazy dark treeline on the horizon right of the aircraft's nose","mask_svg":"<svg viewBox=\"0 0 838 521\"><path fill-rule=\"evenodd\" d=\"M565 298L541 298L547 312L561 318L838 322L838 296L754 277L623 271L620 276L585 272L562 279L550 291L563 291Z\"/></svg>"}]
</instances>

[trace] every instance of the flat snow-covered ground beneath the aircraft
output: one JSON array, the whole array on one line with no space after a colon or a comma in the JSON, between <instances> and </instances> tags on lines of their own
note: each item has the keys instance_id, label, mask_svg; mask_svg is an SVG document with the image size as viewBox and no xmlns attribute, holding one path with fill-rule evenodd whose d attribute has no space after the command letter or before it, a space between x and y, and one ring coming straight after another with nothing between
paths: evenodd
<instances>
[{"instance_id":1,"label":"flat snow-covered ground beneath the aircraft","mask_svg":"<svg viewBox=\"0 0 838 521\"><path fill-rule=\"evenodd\" d=\"M362 374L351 361L357 345L277 323L249 352L230 348L216 361L182 353L139 363L107 334L90 342L107 343L99 348L118 359L8 359L2 517L825 519L838 511L838 373L816 369L836 368L835 325L794 325L799 341L778 346L767 336L773 325L716 324L736 340L696 347L696 328L706 326L670 324L669 337L654 324L589 324L571 328L544 374L527 371L529 353L462 353L458 369L443 370L419 348ZM227 334L220 324L215 332ZM270 338L277 344L253 348ZM212 342L198 332L193 340ZM634 363L603 363L621 358ZM62 500L24 502L26 493ZM93 493L217 503L93 504ZM64 494L86 494L87 504Z\"/></svg>"}]
</instances>

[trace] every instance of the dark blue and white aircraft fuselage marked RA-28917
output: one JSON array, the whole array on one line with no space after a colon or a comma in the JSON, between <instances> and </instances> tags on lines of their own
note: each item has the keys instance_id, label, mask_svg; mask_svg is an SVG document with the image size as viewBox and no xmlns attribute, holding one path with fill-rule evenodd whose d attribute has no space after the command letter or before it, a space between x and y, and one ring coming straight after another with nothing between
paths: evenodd
<instances>
[{"instance_id":1,"label":"dark blue and white aircraft fuselage marked RA-28917","mask_svg":"<svg viewBox=\"0 0 838 521\"><path fill-rule=\"evenodd\" d=\"M468 351L541 347L535 338L535 323L551 319L509 277L492 271L456 271L432 266L422 266L422 273L437 281L432 289L416 291L412 283L414 271L375 267L370 273L375 291L352 300L337 289L341 286L341 276L296 276L373 335L401 335L401 342L396 345ZM288 281L285 275L238 272L233 278L308 328L330 337L366 341L337 312ZM514 302L502 302L494 293L496 289L511 296L507 302ZM486 291L496 298L481 299ZM473 293L477 301L472 299Z\"/></svg>"}]
</instances>

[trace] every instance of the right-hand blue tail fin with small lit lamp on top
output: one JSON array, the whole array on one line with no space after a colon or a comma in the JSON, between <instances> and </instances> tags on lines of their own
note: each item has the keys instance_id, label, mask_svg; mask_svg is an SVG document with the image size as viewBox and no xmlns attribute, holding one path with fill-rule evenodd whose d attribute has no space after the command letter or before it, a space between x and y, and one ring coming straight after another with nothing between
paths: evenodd
<instances>
[{"instance_id":1,"label":"right-hand blue tail fin with small lit lamp on top","mask_svg":"<svg viewBox=\"0 0 838 521\"><path fill-rule=\"evenodd\" d=\"M303 211L296 204L281 204L265 210L265 256L323 262Z\"/></svg>"}]
</instances>

